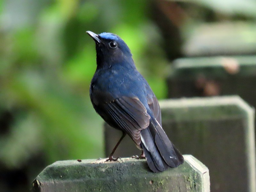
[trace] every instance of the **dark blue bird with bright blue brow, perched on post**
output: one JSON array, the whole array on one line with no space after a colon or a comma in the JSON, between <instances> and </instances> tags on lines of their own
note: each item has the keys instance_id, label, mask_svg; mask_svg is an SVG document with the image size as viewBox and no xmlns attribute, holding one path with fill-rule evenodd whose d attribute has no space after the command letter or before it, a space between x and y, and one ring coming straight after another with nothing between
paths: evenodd
<instances>
[{"instance_id":1,"label":"dark blue bird with bright blue brow, perched on post","mask_svg":"<svg viewBox=\"0 0 256 192\"><path fill-rule=\"evenodd\" d=\"M152 172L183 164L183 156L162 128L158 100L137 70L128 45L113 33L86 33L96 45L97 67L90 84L92 106L107 124L123 133L106 161L118 159L113 154L128 134Z\"/></svg>"}]
</instances>

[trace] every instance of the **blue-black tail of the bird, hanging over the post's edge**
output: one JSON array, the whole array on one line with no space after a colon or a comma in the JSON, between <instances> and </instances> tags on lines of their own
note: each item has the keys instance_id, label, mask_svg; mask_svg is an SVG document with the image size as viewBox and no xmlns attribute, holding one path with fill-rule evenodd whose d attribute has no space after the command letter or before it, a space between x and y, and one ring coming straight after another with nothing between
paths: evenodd
<instances>
[{"instance_id":1,"label":"blue-black tail of the bird, hanging over the post's edge","mask_svg":"<svg viewBox=\"0 0 256 192\"><path fill-rule=\"evenodd\" d=\"M148 128L140 132L141 146L153 172L165 171L184 162L183 156L168 139L156 119L150 119Z\"/></svg>"}]
</instances>

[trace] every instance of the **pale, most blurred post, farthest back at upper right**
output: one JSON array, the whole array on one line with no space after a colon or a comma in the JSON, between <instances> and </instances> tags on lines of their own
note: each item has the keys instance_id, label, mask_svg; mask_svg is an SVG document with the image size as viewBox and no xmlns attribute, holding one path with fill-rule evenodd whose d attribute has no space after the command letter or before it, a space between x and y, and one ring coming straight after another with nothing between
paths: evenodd
<instances>
[{"instance_id":1,"label":"pale, most blurred post, farthest back at upper right","mask_svg":"<svg viewBox=\"0 0 256 192\"><path fill-rule=\"evenodd\" d=\"M191 5L192 2L184 1L182 3ZM190 5L187 8L191 9ZM224 21L203 23L196 25L193 30L186 33L181 52L186 57L255 55L255 34L256 26L254 22Z\"/></svg>"}]
</instances>

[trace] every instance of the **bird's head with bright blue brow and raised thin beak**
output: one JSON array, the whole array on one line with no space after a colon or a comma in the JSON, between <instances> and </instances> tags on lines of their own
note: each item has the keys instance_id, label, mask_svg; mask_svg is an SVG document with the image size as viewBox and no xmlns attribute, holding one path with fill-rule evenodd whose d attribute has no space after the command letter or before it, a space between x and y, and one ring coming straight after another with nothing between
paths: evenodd
<instances>
[{"instance_id":1,"label":"bird's head with bright blue brow and raised thin beak","mask_svg":"<svg viewBox=\"0 0 256 192\"><path fill-rule=\"evenodd\" d=\"M127 44L112 33L95 34L86 31L96 43L97 65L108 65L132 60L132 53Z\"/></svg>"}]
</instances>

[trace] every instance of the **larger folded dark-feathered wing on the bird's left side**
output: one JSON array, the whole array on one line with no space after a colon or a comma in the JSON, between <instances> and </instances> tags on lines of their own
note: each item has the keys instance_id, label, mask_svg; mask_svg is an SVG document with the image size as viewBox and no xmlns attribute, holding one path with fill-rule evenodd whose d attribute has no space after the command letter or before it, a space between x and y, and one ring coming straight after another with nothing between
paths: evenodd
<instances>
[{"instance_id":1,"label":"larger folded dark-feathered wing on the bird's left side","mask_svg":"<svg viewBox=\"0 0 256 192\"><path fill-rule=\"evenodd\" d=\"M105 102L104 107L114 122L139 145L140 131L148 127L150 119L140 100L123 96L114 101Z\"/></svg>"}]
</instances>

